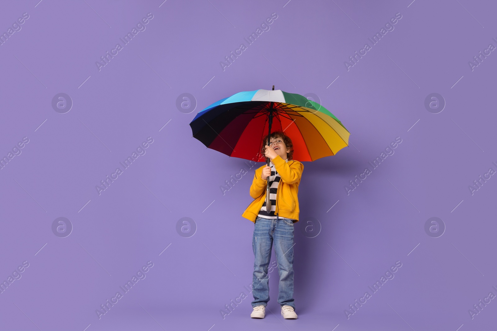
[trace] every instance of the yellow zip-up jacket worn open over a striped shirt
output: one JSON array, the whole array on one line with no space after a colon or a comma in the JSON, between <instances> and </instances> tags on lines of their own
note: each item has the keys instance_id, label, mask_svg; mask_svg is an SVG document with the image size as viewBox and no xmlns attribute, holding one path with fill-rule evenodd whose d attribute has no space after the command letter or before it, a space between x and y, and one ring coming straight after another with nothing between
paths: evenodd
<instances>
[{"instance_id":1,"label":"yellow zip-up jacket worn open over a striped shirt","mask_svg":"<svg viewBox=\"0 0 497 331\"><path fill-rule=\"evenodd\" d=\"M295 219L295 223L297 223L300 212L297 194L304 165L296 160L286 162L279 155L272 159L271 162L281 177L276 190L276 210L274 213L279 217ZM255 170L252 185L250 186L250 197L254 200L242 214L243 217L254 223L266 199L267 179L263 180L261 178L262 169L265 166L266 164Z\"/></svg>"}]
</instances>

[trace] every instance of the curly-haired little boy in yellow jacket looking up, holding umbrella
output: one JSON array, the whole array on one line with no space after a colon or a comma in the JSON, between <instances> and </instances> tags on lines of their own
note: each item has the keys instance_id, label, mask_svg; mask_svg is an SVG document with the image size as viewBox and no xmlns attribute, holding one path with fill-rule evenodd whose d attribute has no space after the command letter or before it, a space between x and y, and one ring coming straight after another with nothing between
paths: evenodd
<instances>
[{"instance_id":1,"label":"curly-haired little boy in yellow jacket looking up, holding umbrella","mask_svg":"<svg viewBox=\"0 0 497 331\"><path fill-rule=\"evenodd\" d=\"M285 319L296 319L293 299L293 224L299 221L299 201L297 199L300 178L304 165L292 160L292 140L281 131L272 132L270 143L264 138L261 152L269 166L257 170L250 186L250 197L254 200L248 205L243 217L255 223L252 236L254 254L252 275L251 318L262 319L269 301L269 275L267 268L274 252L278 263L279 293L278 303ZM271 208L266 209L266 186L269 177L269 199Z\"/></svg>"}]
</instances>

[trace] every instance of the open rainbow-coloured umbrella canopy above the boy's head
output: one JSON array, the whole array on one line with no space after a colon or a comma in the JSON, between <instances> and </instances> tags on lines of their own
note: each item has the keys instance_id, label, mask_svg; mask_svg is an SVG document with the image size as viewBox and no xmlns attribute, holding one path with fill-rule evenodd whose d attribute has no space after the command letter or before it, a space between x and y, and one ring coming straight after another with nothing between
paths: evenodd
<instances>
[{"instance_id":1,"label":"open rainbow-coloured umbrella canopy above the boy's head","mask_svg":"<svg viewBox=\"0 0 497 331\"><path fill-rule=\"evenodd\" d=\"M264 162L262 140L283 131L292 139L293 158L314 161L348 146L350 132L325 107L282 90L239 92L200 111L191 121L193 136L229 156Z\"/></svg>"}]
</instances>

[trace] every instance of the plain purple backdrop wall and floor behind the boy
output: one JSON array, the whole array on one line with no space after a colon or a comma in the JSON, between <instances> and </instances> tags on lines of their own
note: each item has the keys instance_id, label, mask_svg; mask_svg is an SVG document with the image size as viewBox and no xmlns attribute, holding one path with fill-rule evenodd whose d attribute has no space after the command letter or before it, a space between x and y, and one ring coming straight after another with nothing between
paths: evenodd
<instances>
[{"instance_id":1,"label":"plain purple backdrop wall and floor behind the boy","mask_svg":"<svg viewBox=\"0 0 497 331\"><path fill-rule=\"evenodd\" d=\"M0 294L0 329L490 330L497 300L473 319L468 311L497 294L497 179L473 195L468 187L497 170L497 55L474 70L468 62L497 46L495 9L468 0L2 3L1 33L24 12L29 19L0 46L0 156L29 143L0 170L0 279L29 267ZM149 12L146 30L99 70ZM347 70L398 12L395 29ZM241 43L247 50L223 70ZM266 318L249 318L253 223L241 214L263 163L205 148L188 125L219 99L273 84L314 93L351 132L335 156L304 162L294 321L280 316L277 270ZM52 107L58 93L74 103L65 114ZM195 99L187 109L176 107L182 93ZM446 102L437 114L424 106L431 93ZM99 195L95 186L150 136ZM396 137L395 153L347 195ZM241 168L248 174L223 195ZM58 217L73 226L65 238L52 231ZM193 236L176 231L182 217ZM438 238L424 230L431 217L445 224ZM98 319L147 261L146 278ZM396 261L395 277L372 294L368 285ZM223 319L241 292L248 297Z\"/></svg>"}]
</instances>

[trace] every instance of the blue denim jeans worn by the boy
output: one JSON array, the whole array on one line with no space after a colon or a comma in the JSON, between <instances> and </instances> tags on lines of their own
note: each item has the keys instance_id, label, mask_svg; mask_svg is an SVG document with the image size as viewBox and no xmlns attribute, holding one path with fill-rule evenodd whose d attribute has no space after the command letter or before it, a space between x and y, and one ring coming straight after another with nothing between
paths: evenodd
<instances>
[{"instance_id":1,"label":"blue denim jeans worn by the boy","mask_svg":"<svg viewBox=\"0 0 497 331\"><path fill-rule=\"evenodd\" d=\"M252 237L254 254L252 277L252 307L267 306L269 301L269 275L267 268L274 252L278 263L278 303L295 309L293 299L293 221L288 218L263 218L257 216Z\"/></svg>"}]
</instances>

